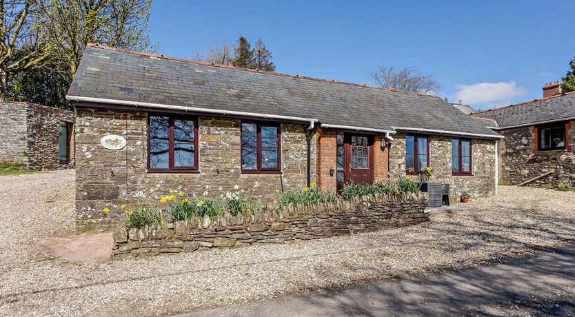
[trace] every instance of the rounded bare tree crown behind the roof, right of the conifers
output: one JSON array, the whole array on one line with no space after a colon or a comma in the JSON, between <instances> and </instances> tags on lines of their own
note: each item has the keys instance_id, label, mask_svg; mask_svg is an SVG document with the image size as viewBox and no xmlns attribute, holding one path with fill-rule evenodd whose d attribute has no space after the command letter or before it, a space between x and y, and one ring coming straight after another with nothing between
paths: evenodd
<instances>
[{"instance_id":1,"label":"rounded bare tree crown behind the roof, right of the conifers","mask_svg":"<svg viewBox=\"0 0 575 317\"><path fill-rule=\"evenodd\" d=\"M432 75L418 72L414 67L395 68L379 66L371 74L372 79L383 88L391 88L418 94L433 94L441 89L441 84Z\"/></svg>"}]
</instances>

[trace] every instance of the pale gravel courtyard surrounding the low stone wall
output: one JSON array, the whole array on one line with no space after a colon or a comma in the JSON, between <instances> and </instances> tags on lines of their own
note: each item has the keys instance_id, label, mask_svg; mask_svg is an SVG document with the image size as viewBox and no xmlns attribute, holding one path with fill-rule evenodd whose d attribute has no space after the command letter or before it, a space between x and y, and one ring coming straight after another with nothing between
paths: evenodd
<instances>
[{"instance_id":1,"label":"pale gravel courtyard surrounding the low stone wall","mask_svg":"<svg viewBox=\"0 0 575 317\"><path fill-rule=\"evenodd\" d=\"M301 289L471 267L575 239L575 194L500 187L416 227L104 264L37 246L74 232L74 171L0 176L0 315L166 315Z\"/></svg>"}]
</instances>

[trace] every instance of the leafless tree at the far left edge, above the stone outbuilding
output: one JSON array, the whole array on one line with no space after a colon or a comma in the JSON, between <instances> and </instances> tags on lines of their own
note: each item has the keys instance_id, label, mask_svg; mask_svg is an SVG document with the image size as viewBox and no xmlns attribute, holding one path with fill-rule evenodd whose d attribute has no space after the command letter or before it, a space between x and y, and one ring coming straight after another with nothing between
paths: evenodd
<instances>
[{"instance_id":1,"label":"leafless tree at the far left edge, above the stone outbuilding","mask_svg":"<svg viewBox=\"0 0 575 317\"><path fill-rule=\"evenodd\" d=\"M8 81L50 58L50 46L37 35L31 19L37 1L0 0L0 101Z\"/></svg>"}]
</instances>

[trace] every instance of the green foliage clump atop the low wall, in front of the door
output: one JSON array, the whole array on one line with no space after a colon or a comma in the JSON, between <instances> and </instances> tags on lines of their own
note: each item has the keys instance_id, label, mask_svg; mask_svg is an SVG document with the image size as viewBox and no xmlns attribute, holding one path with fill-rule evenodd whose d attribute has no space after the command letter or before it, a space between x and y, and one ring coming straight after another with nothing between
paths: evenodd
<instances>
[{"instance_id":1,"label":"green foliage clump atop the low wall, in front of the door","mask_svg":"<svg viewBox=\"0 0 575 317\"><path fill-rule=\"evenodd\" d=\"M411 178L401 178L388 183L348 184L343 186L340 194L344 199L350 199L375 194L417 193L419 187L420 184Z\"/></svg>"}]
</instances>

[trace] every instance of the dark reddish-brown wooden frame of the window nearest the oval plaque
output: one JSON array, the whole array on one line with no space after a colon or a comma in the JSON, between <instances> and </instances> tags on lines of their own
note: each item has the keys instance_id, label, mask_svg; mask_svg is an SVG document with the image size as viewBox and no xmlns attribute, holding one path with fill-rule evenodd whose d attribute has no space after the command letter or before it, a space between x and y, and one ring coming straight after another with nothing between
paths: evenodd
<instances>
[{"instance_id":1,"label":"dark reddish-brown wooden frame of the window nearest the oval plaque","mask_svg":"<svg viewBox=\"0 0 575 317\"><path fill-rule=\"evenodd\" d=\"M150 167L150 120L152 116L165 116L168 117L168 168L152 168ZM194 166L174 166L174 120L186 120L194 123ZM150 113L148 114L148 172L151 173L199 173L199 160L198 160L198 118L196 116L185 116L181 114L166 114L166 113Z\"/></svg>"}]
</instances>

